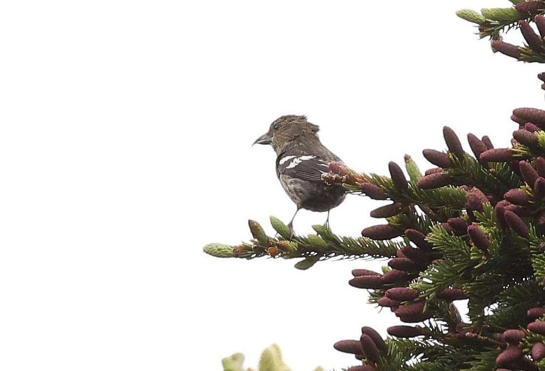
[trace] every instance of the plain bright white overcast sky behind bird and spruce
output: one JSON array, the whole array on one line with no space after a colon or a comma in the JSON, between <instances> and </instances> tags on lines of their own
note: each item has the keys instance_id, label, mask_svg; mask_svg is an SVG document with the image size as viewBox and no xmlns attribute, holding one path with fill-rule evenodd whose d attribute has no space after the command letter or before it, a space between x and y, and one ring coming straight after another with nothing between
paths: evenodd
<instances>
[{"instance_id":1,"label":"plain bright white overcast sky behind bird and spruce","mask_svg":"<svg viewBox=\"0 0 545 371\"><path fill-rule=\"evenodd\" d=\"M386 262L217 259L247 220L288 221L270 147L305 114L354 169L445 149L441 129L508 146L543 70L493 54L481 1L13 1L0 12L0 368L221 370L277 343L294 370L357 364L332 344L398 324L348 286ZM518 39L517 39L518 40ZM509 38L507 38L509 41ZM348 196L358 236L384 202ZM311 233L325 214L301 212Z\"/></svg>"}]
</instances>

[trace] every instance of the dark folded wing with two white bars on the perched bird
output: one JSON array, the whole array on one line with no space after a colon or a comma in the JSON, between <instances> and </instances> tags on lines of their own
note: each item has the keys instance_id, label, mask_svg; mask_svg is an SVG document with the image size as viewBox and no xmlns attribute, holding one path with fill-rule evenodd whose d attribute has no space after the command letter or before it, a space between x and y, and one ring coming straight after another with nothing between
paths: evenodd
<instances>
[{"instance_id":1,"label":"dark folded wing with two white bars on the perched bird","mask_svg":"<svg viewBox=\"0 0 545 371\"><path fill-rule=\"evenodd\" d=\"M329 161L313 154L281 154L276 159L278 175L284 174L306 181L323 182L322 174L329 172Z\"/></svg>"}]
</instances>

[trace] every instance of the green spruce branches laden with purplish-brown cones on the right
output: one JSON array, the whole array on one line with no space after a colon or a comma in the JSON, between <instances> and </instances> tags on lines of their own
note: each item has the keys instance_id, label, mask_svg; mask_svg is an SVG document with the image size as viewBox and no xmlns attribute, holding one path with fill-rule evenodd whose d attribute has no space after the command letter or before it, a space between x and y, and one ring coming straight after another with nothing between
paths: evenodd
<instances>
[{"instance_id":1,"label":"green spruce branches laden with purplish-brown cones on the right","mask_svg":"<svg viewBox=\"0 0 545 371\"><path fill-rule=\"evenodd\" d=\"M461 10L496 51L523 61L545 61L545 2L511 1L508 8ZM537 32L532 28L534 23ZM501 41L519 29L524 46ZM545 73L538 76L545 81ZM277 218L267 236L249 221L253 238L237 246L209 244L217 257L302 258L308 269L332 257L388 258L382 272L356 269L349 284L370 292L370 302L390 308L402 326L381 339L370 327L358 340L335 343L362 360L356 370L545 370L545 110L516 108L510 148L468 134L473 153L443 128L446 152L423 150L434 168L423 174L404 158L389 176L362 174L331 163L326 183L347 193L390 200L371 215L384 219L360 237L290 236ZM408 178L404 174L408 174ZM467 300L462 319L453 302Z\"/></svg>"}]
</instances>

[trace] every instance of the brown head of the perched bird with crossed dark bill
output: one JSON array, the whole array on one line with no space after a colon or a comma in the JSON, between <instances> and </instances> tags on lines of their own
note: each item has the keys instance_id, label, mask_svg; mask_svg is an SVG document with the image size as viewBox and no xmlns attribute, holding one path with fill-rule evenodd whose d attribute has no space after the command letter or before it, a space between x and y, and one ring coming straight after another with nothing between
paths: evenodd
<instances>
[{"instance_id":1,"label":"brown head of the perched bird with crossed dark bill","mask_svg":"<svg viewBox=\"0 0 545 371\"><path fill-rule=\"evenodd\" d=\"M320 127L308 122L306 116L280 116L253 144L270 144L276 153L280 153L290 146L319 141L319 130Z\"/></svg>"}]
</instances>

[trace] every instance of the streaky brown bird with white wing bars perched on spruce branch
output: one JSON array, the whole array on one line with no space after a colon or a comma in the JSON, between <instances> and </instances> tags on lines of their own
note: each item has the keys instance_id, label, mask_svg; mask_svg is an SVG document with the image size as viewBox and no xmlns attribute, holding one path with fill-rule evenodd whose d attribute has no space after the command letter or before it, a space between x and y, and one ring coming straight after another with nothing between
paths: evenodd
<instances>
[{"instance_id":1,"label":"streaky brown bird with white wing bars perched on spruce branch","mask_svg":"<svg viewBox=\"0 0 545 371\"><path fill-rule=\"evenodd\" d=\"M276 152L276 176L297 207L288 223L292 236L293 220L300 209L328 212L324 226L329 228L330 210L341 205L346 196L341 184L322 180L322 174L329 172L329 163L342 160L320 142L319 129L306 116L280 116L253 142L271 145Z\"/></svg>"}]
</instances>

